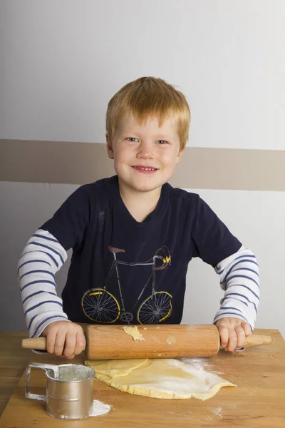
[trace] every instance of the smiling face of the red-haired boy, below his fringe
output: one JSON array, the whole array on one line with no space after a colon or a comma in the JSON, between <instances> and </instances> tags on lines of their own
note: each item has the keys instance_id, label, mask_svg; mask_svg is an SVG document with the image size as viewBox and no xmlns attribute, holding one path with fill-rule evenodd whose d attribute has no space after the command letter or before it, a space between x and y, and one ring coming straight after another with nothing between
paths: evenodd
<instances>
[{"instance_id":1,"label":"smiling face of the red-haired boy, below his fringe","mask_svg":"<svg viewBox=\"0 0 285 428\"><path fill-rule=\"evenodd\" d=\"M133 115L126 115L120 119L113 141L108 135L106 139L120 186L139 192L161 188L182 155L177 123L171 118L160 127L157 118L140 125Z\"/></svg>"}]
</instances>

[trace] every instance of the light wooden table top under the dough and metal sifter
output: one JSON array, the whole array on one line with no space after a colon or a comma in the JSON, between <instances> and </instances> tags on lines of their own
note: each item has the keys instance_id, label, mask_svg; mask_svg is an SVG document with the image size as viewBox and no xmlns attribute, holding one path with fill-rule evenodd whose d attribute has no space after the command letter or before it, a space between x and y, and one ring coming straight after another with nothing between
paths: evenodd
<instances>
[{"instance_id":1,"label":"light wooden table top under the dough and metal sifter","mask_svg":"<svg viewBox=\"0 0 285 428\"><path fill-rule=\"evenodd\" d=\"M204 402L197 399L152 399L117 391L95 381L94 399L112 405L108 414L83 420L49 417L45 404L25 398L24 372L28 362L66 364L71 362L53 355L36 355L21 349L24 333L0 335L1 428L96 427L96 428L167 428L167 427L285 427L285 342L278 330L255 330L271 335L271 345L248 348L236 355L221 351L214 358L203 359L205 370L220 372L221 377L237 384L223 387ZM83 363L80 355L73 362ZM31 391L45 394L43 370L33 370ZM15 389L14 389L15 388ZM12 390L14 393L11 395ZM10 398L11 395L11 398Z\"/></svg>"}]
</instances>

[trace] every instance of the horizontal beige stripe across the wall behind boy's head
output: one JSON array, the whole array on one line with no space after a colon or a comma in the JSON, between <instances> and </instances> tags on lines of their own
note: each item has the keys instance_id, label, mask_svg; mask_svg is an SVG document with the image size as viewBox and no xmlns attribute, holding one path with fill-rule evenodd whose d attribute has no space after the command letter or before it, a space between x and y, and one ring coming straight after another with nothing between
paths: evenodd
<instances>
[{"instance_id":1,"label":"horizontal beige stripe across the wall behind boy's head","mask_svg":"<svg viewBox=\"0 0 285 428\"><path fill-rule=\"evenodd\" d=\"M105 144L0 139L0 181L91 183L114 175ZM175 187L285 191L285 151L185 148Z\"/></svg>"}]
</instances>

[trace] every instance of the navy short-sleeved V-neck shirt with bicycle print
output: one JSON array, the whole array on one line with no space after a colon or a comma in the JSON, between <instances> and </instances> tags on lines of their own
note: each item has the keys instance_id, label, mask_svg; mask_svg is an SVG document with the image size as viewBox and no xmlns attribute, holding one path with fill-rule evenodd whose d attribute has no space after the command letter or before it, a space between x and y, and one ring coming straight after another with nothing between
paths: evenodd
<instances>
[{"instance_id":1,"label":"navy short-sleeved V-neck shirt with bicycle print","mask_svg":"<svg viewBox=\"0 0 285 428\"><path fill-rule=\"evenodd\" d=\"M179 324L190 260L214 267L242 246L199 195L168 183L138 223L117 175L82 185L41 229L73 248L62 294L73 322Z\"/></svg>"}]
</instances>

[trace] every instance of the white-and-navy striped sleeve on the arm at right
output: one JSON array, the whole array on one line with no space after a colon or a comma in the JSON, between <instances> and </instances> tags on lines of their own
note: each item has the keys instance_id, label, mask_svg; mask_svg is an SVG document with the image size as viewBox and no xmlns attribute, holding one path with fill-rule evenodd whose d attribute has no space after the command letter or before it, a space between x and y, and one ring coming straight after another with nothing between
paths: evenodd
<instances>
[{"instance_id":1,"label":"white-and-navy striped sleeve on the arm at right","mask_svg":"<svg viewBox=\"0 0 285 428\"><path fill-rule=\"evenodd\" d=\"M224 290L221 306L214 317L236 317L247 322L254 330L259 307L259 265L254 253L240 248L217 264L215 271Z\"/></svg>"}]
</instances>

